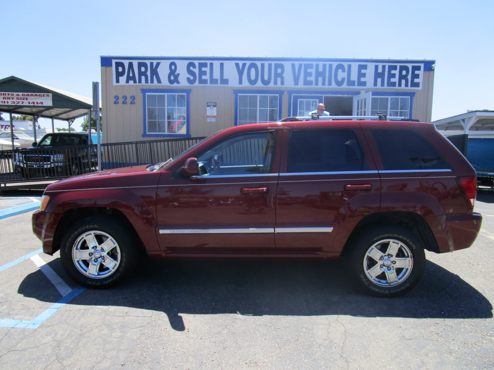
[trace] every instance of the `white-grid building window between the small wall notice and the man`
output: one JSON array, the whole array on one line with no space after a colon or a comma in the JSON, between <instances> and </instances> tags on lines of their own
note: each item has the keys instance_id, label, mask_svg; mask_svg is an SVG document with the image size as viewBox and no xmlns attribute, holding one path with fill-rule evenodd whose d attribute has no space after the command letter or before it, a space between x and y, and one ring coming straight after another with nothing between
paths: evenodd
<instances>
[{"instance_id":1,"label":"white-grid building window between the small wall notice and the man","mask_svg":"<svg viewBox=\"0 0 494 370\"><path fill-rule=\"evenodd\" d=\"M239 125L278 121L278 95L239 94Z\"/></svg>"}]
</instances>

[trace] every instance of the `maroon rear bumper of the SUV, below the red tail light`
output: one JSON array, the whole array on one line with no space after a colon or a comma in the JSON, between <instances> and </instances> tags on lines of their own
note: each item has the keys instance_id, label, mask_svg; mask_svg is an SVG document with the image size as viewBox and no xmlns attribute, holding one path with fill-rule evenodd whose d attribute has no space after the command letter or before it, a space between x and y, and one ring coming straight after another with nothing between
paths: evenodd
<instances>
[{"instance_id":1,"label":"maroon rear bumper of the SUV, below the red tail light","mask_svg":"<svg viewBox=\"0 0 494 370\"><path fill-rule=\"evenodd\" d=\"M427 217L432 232L436 237L439 253L453 252L470 247L482 226L482 215L448 215Z\"/></svg>"}]
</instances>

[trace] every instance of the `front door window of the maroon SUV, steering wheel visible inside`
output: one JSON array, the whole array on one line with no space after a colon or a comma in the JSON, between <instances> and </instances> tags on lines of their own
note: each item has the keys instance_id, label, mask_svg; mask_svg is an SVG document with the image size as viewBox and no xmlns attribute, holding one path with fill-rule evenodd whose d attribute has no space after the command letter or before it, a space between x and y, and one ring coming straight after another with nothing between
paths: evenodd
<instances>
[{"instance_id":1,"label":"front door window of the maroon SUV, steering wheel visible inside","mask_svg":"<svg viewBox=\"0 0 494 370\"><path fill-rule=\"evenodd\" d=\"M250 132L215 144L197 157L200 176L271 172L276 131Z\"/></svg>"}]
</instances>

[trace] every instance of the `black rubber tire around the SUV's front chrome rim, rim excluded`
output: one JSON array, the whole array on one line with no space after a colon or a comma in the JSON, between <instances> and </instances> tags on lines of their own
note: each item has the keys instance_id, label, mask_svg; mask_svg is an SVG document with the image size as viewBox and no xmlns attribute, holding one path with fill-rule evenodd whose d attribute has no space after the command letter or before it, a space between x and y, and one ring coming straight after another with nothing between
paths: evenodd
<instances>
[{"instance_id":1,"label":"black rubber tire around the SUV's front chrome rim, rim excluded","mask_svg":"<svg viewBox=\"0 0 494 370\"><path fill-rule=\"evenodd\" d=\"M107 277L92 278L83 274L75 265L73 249L78 238L87 231L102 231L117 242L120 249L120 263L116 270ZM60 246L62 265L76 282L86 288L106 289L119 284L135 267L138 258L137 243L124 227L116 221L103 217L92 216L74 223L65 233Z\"/></svg>"}]
</instances>

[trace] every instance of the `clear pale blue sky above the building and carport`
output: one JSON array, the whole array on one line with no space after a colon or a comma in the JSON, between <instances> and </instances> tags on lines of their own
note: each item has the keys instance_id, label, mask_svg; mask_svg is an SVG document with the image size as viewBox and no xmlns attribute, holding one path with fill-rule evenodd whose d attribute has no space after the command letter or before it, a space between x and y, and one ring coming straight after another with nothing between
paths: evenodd
<instances>
[{"instance_id":1,"label":"clear pale blue sky above the building and carport","mask_svg":"<svg viewBox=\"0 0 494 370\"><path fill-rule=\"evenodd\" d=\"M435 120L494 110L493 15L492 0L10 1L0 77L90 97L100 55L426 58Z\"/></svg>"}]
</instances>

